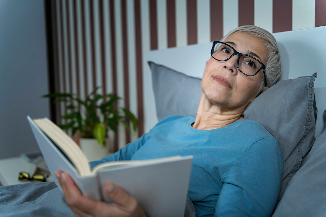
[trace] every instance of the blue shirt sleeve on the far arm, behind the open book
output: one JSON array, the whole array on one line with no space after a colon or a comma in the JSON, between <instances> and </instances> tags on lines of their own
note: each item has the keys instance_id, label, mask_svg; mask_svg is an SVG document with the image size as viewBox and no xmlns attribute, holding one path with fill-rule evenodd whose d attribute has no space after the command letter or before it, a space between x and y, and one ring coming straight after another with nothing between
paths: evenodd
<instances>
[{"instance_id":1,"label":"blue shirt sleeve on the far arm, behind the open book","mask_svg":"<svg viewBox=\"0 0 326 217\"><path fill-rule=\"evenodd\" d=\"M128 143L124 148L120 148L117 152L104 157L98 161L91 161L89 162L91 168L93 169L94 166L109 162L109 161L124 161L124 160L131 160L132 156L137 152L138 149L150 138L149 133L143 134L140 138L138 138L134 142Z\"/></svg>"}]
</instances>

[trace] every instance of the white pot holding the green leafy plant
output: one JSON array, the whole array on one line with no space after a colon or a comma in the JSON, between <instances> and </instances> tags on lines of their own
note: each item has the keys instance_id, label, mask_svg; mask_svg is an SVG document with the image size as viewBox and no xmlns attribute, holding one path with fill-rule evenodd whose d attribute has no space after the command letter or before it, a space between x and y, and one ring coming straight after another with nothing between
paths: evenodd
<instances>
[{"instance_id":1,"label":"white pot holding the green leafy plant","mask_svg":"<svg viewBox=\"0 0 326 217\"><path fill-rule=\"evenodd\" d=\"M85 153L89 161L96 161L103 157L107 157L112 152L112 143L109 138L105 138L105 145L99 146L96 138L80 138L82 151Z\"/></svg>"}]
</instances>

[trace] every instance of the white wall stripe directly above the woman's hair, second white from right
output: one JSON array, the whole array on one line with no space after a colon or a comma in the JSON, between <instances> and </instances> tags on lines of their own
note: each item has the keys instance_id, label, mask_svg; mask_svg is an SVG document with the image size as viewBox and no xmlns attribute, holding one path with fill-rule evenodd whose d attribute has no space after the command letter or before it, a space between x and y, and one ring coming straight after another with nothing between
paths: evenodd
<instances>
[{"instance_id":1,"label":"white wall stripe directly above the woman's hair, second white from right","mask_svg":"<svg viewBox=\"0 0 326 217\"><path fill-rule=\"evenodd\" d=\"M273 32L273 0L254 1L254 25Z\"/></svg>"}]
</instances>

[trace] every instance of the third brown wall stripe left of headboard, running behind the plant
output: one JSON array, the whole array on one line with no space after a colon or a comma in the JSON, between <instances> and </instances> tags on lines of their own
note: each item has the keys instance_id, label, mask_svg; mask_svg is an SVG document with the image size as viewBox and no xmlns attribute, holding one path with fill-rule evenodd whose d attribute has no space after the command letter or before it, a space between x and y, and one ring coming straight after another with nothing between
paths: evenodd
<instances>
[{"instance_id":1,"label":"third brown wall stripe left of headboard, running behind the plant","mask_svg":"<svg viewBox=\"0 0 326 217\"><path fill-rule=\"evenodd\" d=\"M113 0L110 0L110 25L111 25L111 64L112 64L112 87L113 95L117 95L117 72L116 72L116 49L115 49L115 21L114 21L114 5ZM114 103L114 107L117 108L117 104ZM118 131L114 137L114 150L119 149L119 137Z\"/></svg>"}]
</instances>

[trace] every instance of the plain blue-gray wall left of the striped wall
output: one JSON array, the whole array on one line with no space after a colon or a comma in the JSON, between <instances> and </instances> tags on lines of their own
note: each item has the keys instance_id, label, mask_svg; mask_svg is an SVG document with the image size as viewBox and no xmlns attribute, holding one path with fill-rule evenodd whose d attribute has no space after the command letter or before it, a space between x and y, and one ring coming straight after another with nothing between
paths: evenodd
<instances>
[{"instance_id":1,"label":"plain blue-gray wall left of the striped wall","mask_svg":"<svg viewBox=\"0 0 326 217\"><path fill-rule=\"evenodd\" d=\"M49 117L43 0L0 0L0 158L37 151L26 116Z\"/></svg>"}]
</instances>

